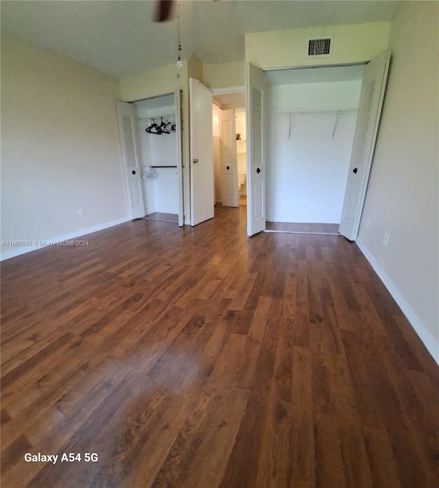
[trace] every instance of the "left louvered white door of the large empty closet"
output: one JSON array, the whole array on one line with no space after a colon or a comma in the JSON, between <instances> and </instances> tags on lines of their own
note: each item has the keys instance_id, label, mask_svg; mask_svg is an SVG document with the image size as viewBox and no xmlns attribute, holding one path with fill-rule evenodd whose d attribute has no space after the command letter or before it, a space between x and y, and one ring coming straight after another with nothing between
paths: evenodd
<instances>
[{"instance_id":1,"label":"left louvered white door of the large empty closet","mask_svg":"<svg viewBox=\"0 0 439 488\"><path fill-rule=\"evenodd\" d=\"M247 234L265 230L265 73L246 64ZM266 93L266 92L265 92Z\"/></svg>"}]
</instances>

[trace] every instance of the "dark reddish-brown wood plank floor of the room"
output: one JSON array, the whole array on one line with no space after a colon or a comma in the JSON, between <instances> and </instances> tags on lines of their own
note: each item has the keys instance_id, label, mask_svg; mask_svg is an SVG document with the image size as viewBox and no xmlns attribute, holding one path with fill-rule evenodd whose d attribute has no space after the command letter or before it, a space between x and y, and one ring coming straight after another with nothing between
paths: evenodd
<instances>
[{"instance_id":1,"label":"dark reddish-brown wood plank floor of the room","mask_svg":"<svg viewBox=\"0 0 439 488\"><path fill-rule=\"evenodd\" d=\"M245 212L2 263L2 487L438 486L439 368L357 245Z\"/></svg>"}]
</instances>

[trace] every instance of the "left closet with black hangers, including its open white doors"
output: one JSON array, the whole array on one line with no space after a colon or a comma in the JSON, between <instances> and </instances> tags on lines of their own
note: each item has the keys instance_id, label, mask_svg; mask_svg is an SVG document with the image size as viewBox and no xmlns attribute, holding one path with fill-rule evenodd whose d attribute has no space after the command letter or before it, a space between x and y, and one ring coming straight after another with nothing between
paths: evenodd
<instances>
[{"instance_id":1,"label":"left closet with black hangers, including its open white doors","mask_svg":"<svg viewBox=\"0 0 439 488\"><path fill-rule=\"evenodd\" d=\"M116 101L132 219L154 215L156 220L180 227L184 223L180 101L180 90L132 102ZM159 170L170 172L161 178Z\"/></svg>"}]
</instances>

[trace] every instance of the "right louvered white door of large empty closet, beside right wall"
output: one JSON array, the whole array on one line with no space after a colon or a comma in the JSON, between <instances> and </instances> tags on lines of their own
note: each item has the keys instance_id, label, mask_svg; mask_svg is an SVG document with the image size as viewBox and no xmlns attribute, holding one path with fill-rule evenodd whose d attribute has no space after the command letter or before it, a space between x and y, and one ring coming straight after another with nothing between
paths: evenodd
<instances>
[{"instance_id":1,"label":"right louvered white door of large empty closet, beside right wall","mask_svg":"<svg viewBox=\"0 0 439 488\"><path fill-rule=\"evenodd\" d=\"M377 139L389 63L390 51L384 51L370 61L364 69L351 164L339 230L340 234L350 241L357 239L370 165L372 164Z\"/></svg>"}]
</instances>

